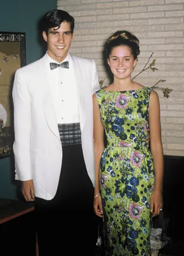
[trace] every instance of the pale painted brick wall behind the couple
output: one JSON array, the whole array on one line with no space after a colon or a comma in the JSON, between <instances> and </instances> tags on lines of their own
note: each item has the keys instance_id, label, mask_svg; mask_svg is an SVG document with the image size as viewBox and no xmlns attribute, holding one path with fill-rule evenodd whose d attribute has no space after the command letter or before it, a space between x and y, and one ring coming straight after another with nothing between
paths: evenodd
<instances>
[{"instance_id":1,"label":"pale painted brick wall behind the couple","mask_svg":"<svg viewBox=\"0 0 184 256\"><path fill-rule=\"evenodd\" d=\"M135 76L154 52L154 73L146 70L135 81L145 86L172 88L168 98L158 92L161 107L164 155L184 156L184 1L182 0L57 0L57 9L75 18L70 53L93 58L99 80L110 80L104 65L104 43L119 29L134 33L140 40Z\"/></svg>"}]
</instances>

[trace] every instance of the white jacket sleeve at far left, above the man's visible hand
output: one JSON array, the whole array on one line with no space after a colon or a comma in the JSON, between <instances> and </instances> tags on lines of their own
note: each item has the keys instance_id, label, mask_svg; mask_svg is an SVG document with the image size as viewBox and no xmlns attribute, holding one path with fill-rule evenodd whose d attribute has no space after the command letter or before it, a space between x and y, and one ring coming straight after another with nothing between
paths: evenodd
<instances>
[{"instance_id":1,"label":"white jacket sleeve at far left, above the man's visible hand","mask_svg":"<svg viewBox=\"0 0 184 256\"><path fill-rule=\"evenodd\" d=\"M32 179L30 171L30 95L26 76L21 69L16 71L13 84L14 143L16 179Z\"/></svg>"}]
</instances>

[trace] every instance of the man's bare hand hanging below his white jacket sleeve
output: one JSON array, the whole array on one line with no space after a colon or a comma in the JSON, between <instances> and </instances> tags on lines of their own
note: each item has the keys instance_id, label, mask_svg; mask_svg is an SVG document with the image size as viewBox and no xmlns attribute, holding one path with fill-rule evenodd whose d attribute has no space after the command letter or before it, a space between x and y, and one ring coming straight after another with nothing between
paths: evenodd
<instances>
[{"instance_id":1,"label":"man's bare hand hanging below his white jacket sleeve","mask_svg":"<svg viewBox=\"0 0 184 256\"><path fill-rule=\"evenodd\" d=\"M24 195L24 198L27 202L34 201L34 186L33 186L33 180L25 180L22 181L22 194Z\"/></svg>"}]
</instances>

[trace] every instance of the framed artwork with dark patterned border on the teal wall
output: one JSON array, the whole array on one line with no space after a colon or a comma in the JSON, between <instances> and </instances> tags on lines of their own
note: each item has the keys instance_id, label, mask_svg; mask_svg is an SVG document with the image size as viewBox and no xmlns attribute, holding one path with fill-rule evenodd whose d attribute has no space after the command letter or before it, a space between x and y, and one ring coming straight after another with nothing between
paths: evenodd
<instances>
[{"instance_id":1,"label":"framed artwork with dark patterned border on the teal wall","mask_svg":"<svg viewBox=\"0 0 184 256\"><path fill-rule=\"evenodd\" d=\"M13 80L16 70L25 65L25 33L0 32L0 159L11 154Z\"/></svg>"}]
</instances>

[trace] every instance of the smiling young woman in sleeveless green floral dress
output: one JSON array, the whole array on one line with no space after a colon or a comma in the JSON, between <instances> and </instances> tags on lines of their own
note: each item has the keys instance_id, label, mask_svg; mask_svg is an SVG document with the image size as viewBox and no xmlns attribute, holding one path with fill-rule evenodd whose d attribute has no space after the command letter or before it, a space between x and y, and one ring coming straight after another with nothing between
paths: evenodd
<instances>
[{"instance_id":1,"label":"smiling young woman in sleeveless green floral dress","mask_svg":"<svg viewBox=\"0 0 184 256\"><path fill-rule=\"evenodd\" d=\"M131 79L140 54L136 36L117 31L106 52L114 79L93 95L94 211L104 217L107 255L151 256L151 220L162 208L159 98ZM151 150L146 146L148 129Z\"/></svg>"}]
</instances>

